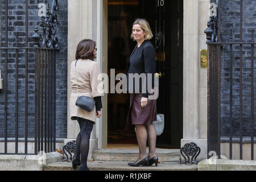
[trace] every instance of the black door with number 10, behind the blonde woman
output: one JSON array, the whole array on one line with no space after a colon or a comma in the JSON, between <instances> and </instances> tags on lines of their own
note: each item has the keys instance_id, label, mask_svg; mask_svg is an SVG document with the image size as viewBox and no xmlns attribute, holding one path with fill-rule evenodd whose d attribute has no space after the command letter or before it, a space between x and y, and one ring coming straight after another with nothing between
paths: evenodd
<instances>
[{"instance_id":1,"label":"black door with number 10, behind the blonde woman","mask_svg":"<svg viewBox=\"0 0 256 182\"><path fill-rule=\"evenodd\" d=\"M180 148L183 135L183 0L155 0L154 45L159 74L158 113L164 133L158 147ZM147 18L147 17L145 17ZM151 20L152 21L152 20Z\"/></svg>"}]
</instances>

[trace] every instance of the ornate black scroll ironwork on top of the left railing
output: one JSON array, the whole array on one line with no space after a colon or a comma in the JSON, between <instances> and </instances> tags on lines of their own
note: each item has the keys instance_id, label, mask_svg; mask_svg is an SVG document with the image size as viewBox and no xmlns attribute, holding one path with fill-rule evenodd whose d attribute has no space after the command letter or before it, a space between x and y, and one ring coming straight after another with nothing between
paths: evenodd
<instances>
[{"instance_id":1,"label":"ornate black scroll ironwork on top of the left railing","mask_svg":"<svg viewBox=\"0 0 256 182\"><path fill-rule=\"evenodd\" d=\"M39 26L43 29L43 36L38 34L38 27L35 27L35 34L32 35L32 38L35 40L34 47L44 47L53 48L58 47L59 40L55 37L55 33L57 30L57 14L53 14L53 11L58 10L58 2L57 0L52 1L51 11L49 8L49 3L46 9L46 16L42 16ZM42 44L40 45L40 41Z\"/></svg>"}]
</instances>

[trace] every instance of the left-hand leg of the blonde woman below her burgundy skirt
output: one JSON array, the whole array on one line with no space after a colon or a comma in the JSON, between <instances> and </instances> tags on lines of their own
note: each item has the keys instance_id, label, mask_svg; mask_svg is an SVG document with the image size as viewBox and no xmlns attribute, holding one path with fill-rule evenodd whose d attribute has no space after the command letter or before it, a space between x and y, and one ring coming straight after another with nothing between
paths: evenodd
<instances>
[{"instance_id":1,"label":"left-hand leg of the blonde woman below her burgundy skirt","mask_svg":"<svg viewBox=\"0 0 256 182\"><path fill-rule=\"evenodd\" d=\"M147 130L144 125L135 125L136 127L136 136L139 146L139 159L135 162L138 163L142 159L146 158L146 148L147 148Z\"/></svg>"}]
</instances>

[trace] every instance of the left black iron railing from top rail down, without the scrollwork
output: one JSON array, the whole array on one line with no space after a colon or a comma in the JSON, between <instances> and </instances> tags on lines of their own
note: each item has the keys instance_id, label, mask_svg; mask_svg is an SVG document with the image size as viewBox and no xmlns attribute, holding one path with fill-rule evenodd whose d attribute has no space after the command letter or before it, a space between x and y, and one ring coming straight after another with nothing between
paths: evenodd
<instances>
[{"instance_id":1,"label":"left black iron railing from top rail down, without the scrollwork","mask_svg":"<svg viewBox=\"0 0 256 182\"><path fill-rule=\"evenodd\" d=\"M17 36L18 38L18 36ZM17 39L18 40L18 39ZM18 44L18 42L17 42ZM59 51L56 48L28 48L28 47L0 47L1 50L5 51L5 77L3 81L3 92L5 93L5 154L9 154L7 152L7 130L8 130L8 82L10 81L7 73L9 72L8 65L8 53L10 50L15 50L15 154L18 154L18 135L19 135L19 110L18 103L19 101L19 52L25 51L25 63L23 66L25 68L24 73L24 82L25 82L25 95L24 95L24 153L28 154L27 151L27 143L28 143L28 72L30 69L28 68L28 55L30 53L35 54L35 62L31 67L35 68L35 123L34 123L34 142L35 142L35 154L38 154L40 150L45 152L55 151L55 143L56 143L56 133L55 133L55 113L56 113L56 104L55 104L55 74L56 74L56 53ZM23 51L24 50L24 51ZM30 79L31 80L31 79ZM23 113L23 112L20 112ZM44 146L43 146L44 144Z\"/></svg>"}]
</instances>

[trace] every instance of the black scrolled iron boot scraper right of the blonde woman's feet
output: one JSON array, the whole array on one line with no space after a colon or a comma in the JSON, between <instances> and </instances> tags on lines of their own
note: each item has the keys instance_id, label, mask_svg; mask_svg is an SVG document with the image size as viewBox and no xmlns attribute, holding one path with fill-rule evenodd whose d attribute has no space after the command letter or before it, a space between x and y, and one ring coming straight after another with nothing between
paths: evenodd
<instances>
[{"instance_id":1,"label":"black scrolled iron boot scraper right of the blonde woman's feet","mask_svg":"<svg viewBox=\"0 0 256 182\"><path fill-rule=\"evenodd\" d=\"M199 161L196 160L197 156L200 154L201 149L199 146L197 146L197 144L195 142L191 142L191 143L186 143L184 144L184 146L180 149L180 154L183 156L183 158L185 159L185 162L181 162L180 160L180 164L187 164L189 163L189 156L191 156L191 164L197 164L199 163ZM185 158L185 156L187 156L187 158ZM195 158L195 160L193 160Z\"/></svg>"}]
</instances>

